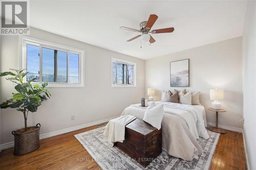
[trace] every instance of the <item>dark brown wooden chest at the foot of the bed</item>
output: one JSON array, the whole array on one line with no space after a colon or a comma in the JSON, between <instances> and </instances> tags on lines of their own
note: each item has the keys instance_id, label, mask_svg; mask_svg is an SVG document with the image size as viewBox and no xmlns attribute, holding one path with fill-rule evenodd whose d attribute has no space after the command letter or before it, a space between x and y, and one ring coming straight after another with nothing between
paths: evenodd
<instances>
[{"instance_id":1,"label":"dark brown wooden chest at the foot of the bed","mask_svg":"<svg viewBox=\"0 0 256 170\"><path fill-rule=\"evenodd\" d=\"M114 145L146 167L162 153L162 129L136 118L125 126L125 140Z\"/></svg>"}]
</instances>

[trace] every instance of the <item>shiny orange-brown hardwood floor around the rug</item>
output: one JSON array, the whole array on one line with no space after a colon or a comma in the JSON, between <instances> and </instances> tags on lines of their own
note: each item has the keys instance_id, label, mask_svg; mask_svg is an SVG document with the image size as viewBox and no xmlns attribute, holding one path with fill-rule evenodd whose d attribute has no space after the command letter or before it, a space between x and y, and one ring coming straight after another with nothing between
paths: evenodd
<instances>
[{"instance_id":1,"label":"shiny orange-brown hardwood floor around the rug","mask_svg":"<svg viewBox=\"0 0 256 170\"><path fill-rule=\"evenodd\" d=\"M74 137L95 128L97 126L42 139L38 150L23 156L12 155L13 148L3 150L0 169L100 169ZM237 132L226 132L220 136L210 169L247 169L242 134L234 139Z\"/></svg>"}]
</instances>

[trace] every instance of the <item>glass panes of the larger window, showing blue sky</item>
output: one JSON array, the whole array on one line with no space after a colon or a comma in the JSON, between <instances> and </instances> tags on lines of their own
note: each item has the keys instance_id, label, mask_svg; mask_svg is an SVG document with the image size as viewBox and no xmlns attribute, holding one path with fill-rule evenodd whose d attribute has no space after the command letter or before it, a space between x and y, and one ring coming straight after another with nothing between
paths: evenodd
<instances>
[{"instance_id":1,"label":"glass panes of the larger window, showing blue sky","mask_svg":"<svg viewBox=\"0 0 256 170\"><path fill-rule=\"evenodd\" d=\"M40 78L39 46L27 44L27 80ZM41 47L42 82L79 83L79 55L67 51ZM68 57L69 55L69 57ZM69 58L69 59L68 59ZM69 73L69 74L68 74Z\"/></svg>"}]
</instances>

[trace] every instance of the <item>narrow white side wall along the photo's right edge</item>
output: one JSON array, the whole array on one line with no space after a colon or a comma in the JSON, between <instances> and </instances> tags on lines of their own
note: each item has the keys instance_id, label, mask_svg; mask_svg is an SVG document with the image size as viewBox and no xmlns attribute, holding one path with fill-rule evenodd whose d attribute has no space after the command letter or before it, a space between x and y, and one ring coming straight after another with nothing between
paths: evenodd
<instances>
[{"instance_id":1,"label":"narrow white side wall along the photo's right edge","mask_svg":"<svg viewBox=\"0 0 256 170\"><path fill-rule=\"evenodd\" d=\"M256 2L248 1L243 35L244 138L250 169L256 169Z\"/></svg>"}]
</instances>

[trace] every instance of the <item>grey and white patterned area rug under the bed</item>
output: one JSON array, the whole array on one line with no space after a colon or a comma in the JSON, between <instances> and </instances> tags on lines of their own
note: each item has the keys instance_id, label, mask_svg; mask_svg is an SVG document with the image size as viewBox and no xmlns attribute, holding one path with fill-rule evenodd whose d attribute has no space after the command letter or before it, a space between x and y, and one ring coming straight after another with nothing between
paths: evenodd
<instances>
[{"instance_id":1,"label":"grey and white patterned area rug under the bed","mask_svg":"<svg viewBox=\"0 0 256 170\"><path fill-rule=\"evenodd\" d=\"M118 148L110 147L108 141L103 136L104 130L105 127L101 127L75 135L77 140L92 156L92 160L96 161L101 169L208 169L220 137L219 133L208 131L210 136L209 139L198 139L198 142L203 148L203 153L199 159L186 161L170 156L167 152L163 151L146 168L144 168ZM82 160L84 159L80 158L80 161Z\"/></svg>"}]
</instances>

